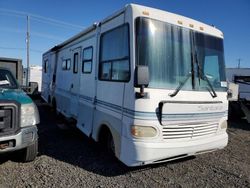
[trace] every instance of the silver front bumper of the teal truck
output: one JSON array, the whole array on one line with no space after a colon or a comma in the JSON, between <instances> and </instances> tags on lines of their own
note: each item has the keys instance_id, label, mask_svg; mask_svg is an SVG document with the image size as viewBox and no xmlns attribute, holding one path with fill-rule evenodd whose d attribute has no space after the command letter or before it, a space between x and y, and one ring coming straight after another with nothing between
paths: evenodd
<instances>
[{"instance_id":1,"label":"silver front bumper of the teal truck","mask_svg":"<svg viewBox=\"0 0 250 188\"><path fill-rule=\"evenodd\" d=\"M15 135L0 137L0 154L26 148L37 139L36 126L22 128L21 131Z\"/></svg>"}]
</instances>

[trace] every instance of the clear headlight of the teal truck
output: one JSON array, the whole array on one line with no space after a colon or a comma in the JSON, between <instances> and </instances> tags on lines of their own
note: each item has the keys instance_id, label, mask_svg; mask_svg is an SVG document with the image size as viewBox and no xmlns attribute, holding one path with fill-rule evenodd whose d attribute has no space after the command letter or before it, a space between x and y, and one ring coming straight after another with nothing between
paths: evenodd
<instances>
[{"instance_id":1,"label":"clear headlight of the teal truck","mask_svg":"<svg viewBox=\"0 0 250 188\"><path fill-rule=\"evenodd\" d=\"M40 122L39 113L34 103L21 105L21 127L36 125Z\"/></svg>"}]
</instances>

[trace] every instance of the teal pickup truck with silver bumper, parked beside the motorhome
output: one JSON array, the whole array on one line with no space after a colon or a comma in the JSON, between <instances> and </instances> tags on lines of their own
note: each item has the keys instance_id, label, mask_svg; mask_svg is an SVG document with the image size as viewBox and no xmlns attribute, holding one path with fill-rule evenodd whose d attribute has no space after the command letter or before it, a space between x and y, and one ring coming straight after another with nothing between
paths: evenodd
<instances>
[{"instance_id":1,"label":"teal pickup truck with silver bumper, parked beside the motorhome","mask_svg":"<svg viewBox=\"0 0 250 188\"><path fill-rule=\"evenodd\" d=\"M19 150L24 162L38 151L36 105L20 89L10 70L0 68L0 154Z\"/></svg>"}]
</instances>

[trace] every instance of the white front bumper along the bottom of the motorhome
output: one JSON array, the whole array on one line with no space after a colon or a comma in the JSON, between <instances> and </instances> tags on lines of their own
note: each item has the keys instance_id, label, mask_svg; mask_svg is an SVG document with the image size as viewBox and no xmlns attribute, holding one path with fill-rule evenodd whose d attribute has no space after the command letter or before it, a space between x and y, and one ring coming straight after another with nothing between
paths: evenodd
<instances>
[{"instance_id":1,"label":"white front bumper along the bottom of the motorhome","mask_svg":"<svg viewBox=\"0 0 250 188\"><path fill-rule=\"evenodd\" d=\"M140 166L198 155L224 148L227 133L188 142L139 142L122 138L120 160L127 166Z\"/></svg>"}]
</instances>

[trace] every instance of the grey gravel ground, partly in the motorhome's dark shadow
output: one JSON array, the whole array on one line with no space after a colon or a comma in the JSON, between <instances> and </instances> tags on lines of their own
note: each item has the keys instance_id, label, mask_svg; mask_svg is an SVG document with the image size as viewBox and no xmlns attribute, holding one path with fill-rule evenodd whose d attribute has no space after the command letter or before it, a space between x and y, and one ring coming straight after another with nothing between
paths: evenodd
<instances>
[{"instance_id":1,"label":"grey gravel ground, partly in the motorhome's dark shadow","mask_svg":"<svg viewBox=\"0 0 250 188\"><path fill-rule=\"evenodd\" d=\"M2 187L250 187L250 125L230 123L224 150L174 162L128 168L79 131L60 130L37 101L39 154L30 163L0 156Z\"/></svg>"}]
</instances>

